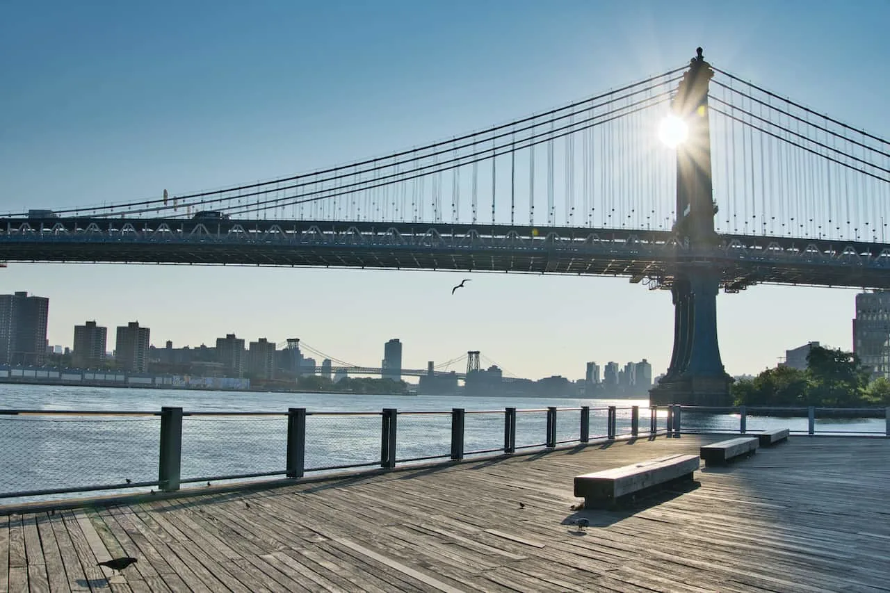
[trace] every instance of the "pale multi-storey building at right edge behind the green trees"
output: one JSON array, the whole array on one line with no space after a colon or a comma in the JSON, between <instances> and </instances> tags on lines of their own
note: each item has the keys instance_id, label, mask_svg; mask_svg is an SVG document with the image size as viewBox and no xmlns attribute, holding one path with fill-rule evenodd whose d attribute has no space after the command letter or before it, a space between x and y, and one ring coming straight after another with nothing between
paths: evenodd
<instances>
[{"instance_id":1,"label":"pale multi-storey building at right edge behind the green trees","mask_svg":"<svg viewBox=\"0 0 890 593\"><path fill-rule=\"evenodd\" d=\"M853 352L874 376L890 378L890 291L856 295Z\"/></svg>"}]
</instances>

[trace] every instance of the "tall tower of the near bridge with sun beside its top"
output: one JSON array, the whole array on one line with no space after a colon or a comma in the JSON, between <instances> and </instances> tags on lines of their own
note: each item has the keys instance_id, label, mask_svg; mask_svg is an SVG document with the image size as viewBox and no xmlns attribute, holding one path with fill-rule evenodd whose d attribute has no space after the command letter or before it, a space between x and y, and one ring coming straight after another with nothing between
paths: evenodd
<instances>
[{"instance_id":1,"label":"tall tower of the near bridge with sun beside its top","mask_svg":"<svg viewBox=\"0 0 890 593\"><path fill-rule=\"evenodd\" d=\"M697 250L708 252L719 238L711 183L711 140L708 122L708 83L714 70L702 50L677 85L671 109L687 128L676 147L676 214L673 231L691 248L677 258L671 296L674 302L674 348L667 375L649 394L653 405L731 405L729 386L717 343L716 296L721 270L707 258L696 261Z\"/></svg>"}]
</instances>

